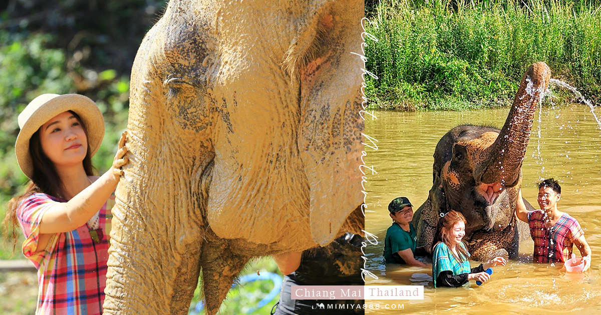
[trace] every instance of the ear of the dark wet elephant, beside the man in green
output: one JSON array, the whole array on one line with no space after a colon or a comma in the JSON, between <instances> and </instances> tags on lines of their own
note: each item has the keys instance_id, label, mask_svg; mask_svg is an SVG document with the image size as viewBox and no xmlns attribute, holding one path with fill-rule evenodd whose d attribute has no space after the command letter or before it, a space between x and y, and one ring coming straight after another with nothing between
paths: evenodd
<instances>
[{"instance_id":1,"label":"ear of the dark wet elephant, beside the man in green","mask_svg":"<svg viewBox=\"0 0 601 315\"><path fill-rule=\"evenodd\" d=\"M413 215L413 226L416 226L417 247L430 253L430 247L436 235L436 227L440 214L447 212L445 192L441 186L439 173L435 172L432 189L428 200Z\"/></svg>"}]
</instances>

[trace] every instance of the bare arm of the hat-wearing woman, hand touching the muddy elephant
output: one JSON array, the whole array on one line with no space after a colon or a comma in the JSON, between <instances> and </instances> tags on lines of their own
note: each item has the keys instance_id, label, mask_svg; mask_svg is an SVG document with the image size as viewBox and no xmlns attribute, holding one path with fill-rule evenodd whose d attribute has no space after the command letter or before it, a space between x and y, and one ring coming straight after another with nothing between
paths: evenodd
<instances>
[{"instance_id":1,"label":"bare arm of the hat-wearing woman, hand touching the muddy elephant","mask_svg":"<svg viewBox=\"0 0 601 315\"><path fill-rule=\"evenodd\" d=\"M40 233L62 233L75 230L84 225L102 208L102 205L115 191L120 176L123 175L120 167L127 164L126 136L127 131L121 135L119 149L111 169L68 202L57 202L44 212L40 221Z\"/></svg>"}]
</instances>

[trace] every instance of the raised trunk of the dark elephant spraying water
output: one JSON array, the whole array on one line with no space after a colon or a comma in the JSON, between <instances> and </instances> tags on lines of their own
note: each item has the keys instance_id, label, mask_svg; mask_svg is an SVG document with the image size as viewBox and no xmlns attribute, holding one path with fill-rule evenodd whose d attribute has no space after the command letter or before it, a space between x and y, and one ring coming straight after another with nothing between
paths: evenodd
<instances>
[{"instance_id":1,"label":"raised trunk of the dark elephant spraying water","mask_svg":"<svg viewBox=\"0 0 601 315\"><path fill-rule=\"evenodd\" d=\"M501 133L490 146L489 162L483 168L480 182L500 182L504 187L517 185L534 112L543 100L550 78L551 69L545 62L535 62L526 70Z\"/></svg>"}]
</instances>

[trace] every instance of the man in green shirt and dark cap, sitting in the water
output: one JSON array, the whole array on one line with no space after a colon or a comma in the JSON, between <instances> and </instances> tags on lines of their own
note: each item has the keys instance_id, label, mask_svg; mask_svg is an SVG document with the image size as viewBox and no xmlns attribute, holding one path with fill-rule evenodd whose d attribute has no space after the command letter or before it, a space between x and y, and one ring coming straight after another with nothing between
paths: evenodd
<instances>
[{"instance_id":1,"label":"man in green shirt and dark cap, sitting in the water","mask_svg":"<svg viewBox=\"0 0 601 315\"><path fill-rule=\"evenodd\" d=\"M428 267L413 257L417 245L413 219L413 205L407 197L397 197L388 204L392 226L386 230L384 259L386 263L402 263L409 266Z\"/></svg>"}]
</instances>

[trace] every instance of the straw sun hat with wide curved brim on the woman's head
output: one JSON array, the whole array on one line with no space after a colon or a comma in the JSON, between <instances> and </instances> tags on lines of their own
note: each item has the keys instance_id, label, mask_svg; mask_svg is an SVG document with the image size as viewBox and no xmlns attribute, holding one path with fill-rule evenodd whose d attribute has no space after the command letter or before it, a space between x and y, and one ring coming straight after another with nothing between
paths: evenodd
<instances>
[{"instance_id":1,"label":"straw sun hat with wide curved brim on the woman's head","mask_svg":"<svg viewBox=\"0 0 601 315\"><path fill-rule=\"evenodd\" d=\"M31 101L19 114L19 136L14 145L17 162L25 175L31 179L34 166L29 154L29 139L54 116L73 110L79 115L88 136L90 154L94 156L100 148L102 137L105 135L105 121L94 101L79 94L42 94Z\"/></svg>"}]
</instances>

